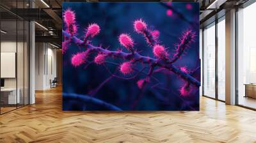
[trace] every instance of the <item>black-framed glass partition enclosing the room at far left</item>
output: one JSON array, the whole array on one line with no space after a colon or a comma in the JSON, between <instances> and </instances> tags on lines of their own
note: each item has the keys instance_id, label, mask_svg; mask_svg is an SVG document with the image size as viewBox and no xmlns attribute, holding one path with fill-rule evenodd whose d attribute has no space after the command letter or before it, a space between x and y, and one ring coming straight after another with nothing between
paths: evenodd
<instances>
[{"instance_id":1,"label":"black-framed glass partition enclosing the room at far left","mask_svg":"<svg viewBox=\"0 0 256 143\"><path fill-rule=\"evenodd\" d=\"M28 7L28 1L0 1L0 4L7 4L12 10ZM3 114L29 103L29 22L0 8L0 30L0 114Z\"/></svg>"}]
</instances>

